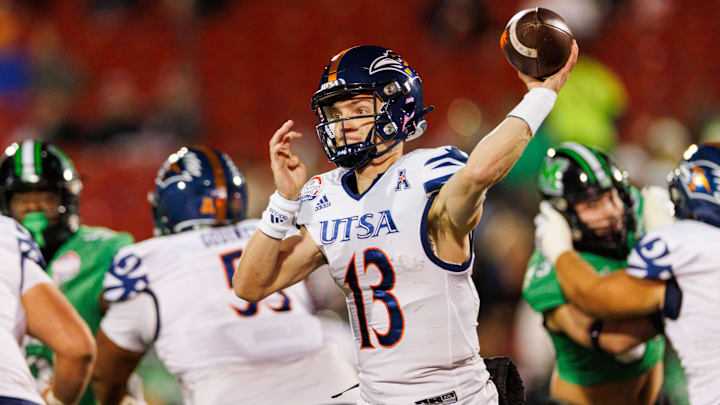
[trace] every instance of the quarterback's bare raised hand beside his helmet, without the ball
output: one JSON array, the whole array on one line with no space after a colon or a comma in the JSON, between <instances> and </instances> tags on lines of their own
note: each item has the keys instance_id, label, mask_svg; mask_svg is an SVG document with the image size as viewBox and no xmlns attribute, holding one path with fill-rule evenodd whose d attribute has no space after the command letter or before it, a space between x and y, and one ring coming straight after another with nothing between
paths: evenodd
<instances>
[{"instance_id":1,"label":"quarterback's bare raised hand beside his helmet, without the ball","mask_svg":"<svg viewBox=\"0 0 720 405\"><path fill-rule=\"evenodd\" d=\"M292 153L290 143L302 137L292 131L294 122L286 121L270 138L270 167L275 187L288 200L297 200L300 189L307 179L307 169L300 158Z\"/></svg>"}]
</instances>

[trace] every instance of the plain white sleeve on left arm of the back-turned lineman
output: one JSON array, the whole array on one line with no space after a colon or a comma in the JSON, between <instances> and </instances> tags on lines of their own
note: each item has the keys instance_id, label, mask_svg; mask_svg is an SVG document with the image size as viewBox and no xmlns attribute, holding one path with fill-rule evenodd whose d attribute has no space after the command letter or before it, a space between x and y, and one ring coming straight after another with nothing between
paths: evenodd
<instances>
[{"instance_id":1,"label":"plain white sleeve on left arm of the back-turned lineman","mask_svg":"<svg viewBox=\"0 0 720 405\"><path fill-rule=\"evenodd\" d=\"M118 347L142 353L155 340L159 324L155 298L144 293L110 305L100 328Z\"/></svg>"}]
</instances>

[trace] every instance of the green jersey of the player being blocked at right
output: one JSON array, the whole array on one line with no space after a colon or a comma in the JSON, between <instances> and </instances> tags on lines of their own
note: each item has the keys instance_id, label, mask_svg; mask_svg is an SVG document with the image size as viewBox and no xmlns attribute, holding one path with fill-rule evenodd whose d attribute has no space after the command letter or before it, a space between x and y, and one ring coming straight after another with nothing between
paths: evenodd
<instances>
[{"instance_id":1,"label":"green jersey of the player being blocked at right","mask_svg":"<svg viewBox=\"0 0 720 405\"><path fill-rule=\"evenodd\" d=\"M642 218L642 197L636 189L632 189L634 208L637 218ZM634 246L635 235L644 228L638 224L636 232L629 238L630 246ZM615 260L592 253L579 252L583 259L595 268L598 274L609 274L626 266L624 260ZM555 269L539 250L536 250L525 273L523 282L523 298L533 310L544 313L557 308L567 299L560 289ZM665 353L665 340L656 336L646 343L645 352L639 359L630 363L618 361L615 356L584 347L564 333L548 330L555 346L555 361L560 377L577 385L596 385L612 381L620 381L636 377L651 370Z\"/></svg>"}]
</instances>

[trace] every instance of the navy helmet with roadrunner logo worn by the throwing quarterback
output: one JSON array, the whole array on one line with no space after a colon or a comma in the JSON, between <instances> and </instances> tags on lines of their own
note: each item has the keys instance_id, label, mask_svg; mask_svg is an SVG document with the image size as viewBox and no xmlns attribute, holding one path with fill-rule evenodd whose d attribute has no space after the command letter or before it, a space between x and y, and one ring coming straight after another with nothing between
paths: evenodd
<instances>
[{"instance_id":1,"label":"navy helmet with roadrunner logo worn by the throwing quarterback","mask_svg":"<svg viewBox=\"0 0 720 405\"><path fill-rule=\"evenodd\" d=\"M373 96L374 110L370 114L335 119L328 113L335 102L358 94ZM422 135L427 127L423 117L434 107L423 108L420 76L400 55L379 46L356 46L330 60L312 96L311 108L318 120L315 127L318 139L328 159L338 166L355 169L398 143ZM367 118L373 119L373 125L365 139L348 144L345 123ZM390 146L378 152L377 145L386 142Z\"/></svg>"}]
</instances>

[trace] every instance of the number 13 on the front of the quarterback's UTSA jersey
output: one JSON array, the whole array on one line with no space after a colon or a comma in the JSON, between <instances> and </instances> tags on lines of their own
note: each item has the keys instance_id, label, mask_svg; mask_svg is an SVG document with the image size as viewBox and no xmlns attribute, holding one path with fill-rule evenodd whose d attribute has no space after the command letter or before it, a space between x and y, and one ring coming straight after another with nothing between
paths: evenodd
<instances>
[{"instance_id":1,"label":"number 13 on the front of the quarterback's UTSA jersey","mask_svg":"<svg viewBox=\"0 0 720 405\"><path fill-rule=\"evenodd\" d=\"M402 309L397 298L392 294L391 290L395 287L395 269L393 269L390 260L388 260L385 252L378 248L368 248L363 252L363 274L367 274L371 266L380 272L380 282L365 288L372 291L373 303L379 301L385 306L388 312L388 328L385 333L378 332L374 327L370 327L377 337L378 343L383 347L393 347L400 339L402 339L405 328L405 320L403 318ZM371 270L372 271L372 270ZM363 300L363 288L358 283L357 266L355 265L355 255L353 254L350 263L348 263L345 273L345 285L350 288L353 293L353 300L357 311L357 321L360 327L360 348L374 349L370 341L370 331L368 327L367 311Z\"/></svg>"}]
</instances>

